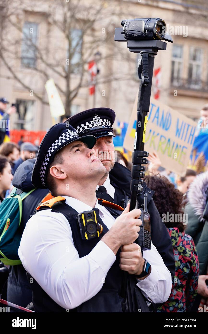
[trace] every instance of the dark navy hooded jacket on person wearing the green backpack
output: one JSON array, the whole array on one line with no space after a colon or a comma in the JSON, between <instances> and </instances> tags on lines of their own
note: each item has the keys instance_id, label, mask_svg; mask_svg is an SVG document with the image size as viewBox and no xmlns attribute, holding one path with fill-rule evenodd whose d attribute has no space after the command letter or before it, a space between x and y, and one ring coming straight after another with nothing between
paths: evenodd
<instances>
[{"instance_id":1,"label":"dark navy hooded jacket on person wearing the green backpack","mask_svg":"<svg viewBox=\"0 0 208 334\"><path fill-rule=\"evenodd\" d=\"M35 188L31 181L35 160L28 159L17 168L12 180L13 186L18 188L17 194L29 192ZM48 189L36 189L22 201L22 219L19 226L21 234L27 221L34 214L38 203L48 191ZM23 307L26 307L32 301L31 285L27 280L26 271L22 265L9 267L7 301Z\"/></svg>"}]
</instances>

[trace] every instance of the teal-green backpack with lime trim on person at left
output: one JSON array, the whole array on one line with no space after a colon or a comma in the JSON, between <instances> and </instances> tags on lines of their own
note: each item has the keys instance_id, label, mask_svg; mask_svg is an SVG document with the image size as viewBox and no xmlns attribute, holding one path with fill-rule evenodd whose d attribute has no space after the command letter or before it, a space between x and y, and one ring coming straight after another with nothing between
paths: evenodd
<instances>
[{"instance_id":1,"label":"teal-green backpack with lime trim on person at left","mask_svg":"<svg viewBox=\"0 0 208 334\"><path fill-rule=\"evenodd\" d=\"M17 251L22 237L18 228L22 219L22 201L35 189L18 195L14 188L0 204L0 262L4 265L21 264Z\"/></svg>"}]
</instances>

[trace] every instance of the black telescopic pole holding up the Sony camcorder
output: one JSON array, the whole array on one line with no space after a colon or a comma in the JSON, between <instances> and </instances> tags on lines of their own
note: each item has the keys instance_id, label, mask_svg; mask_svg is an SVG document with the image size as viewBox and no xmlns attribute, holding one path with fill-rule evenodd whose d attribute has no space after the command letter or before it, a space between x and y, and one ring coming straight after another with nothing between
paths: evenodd
<instances>
[{"instance_id":1,"label":"black telescopic pole holding up the Sony camcorder","mask_svg":"<svg viewBox=\"0 0 208 334\"><path fill-rule=\"evenodd\" d=\"M115 28L114 40L116 41L126 41L124 35L121 34L123 31L122 28ZM172 41L172 38L169 36L167 41ZM143 180L140 178L145 176L145 166L148 163L147 157L148 152L144 151L145 144L145 134L147 127L147 113L149 112L150 106L150 95L152 87L152 76L153 76L153 67L154 67L154 57L157 55L158 50L166 50L166 45L162 40L127 40L127 47L131 52L140 52L142 55L141 62L138 67L138 76L140 79L139 85L139 95L137 102L137 123L136 123L136 132L134 139L134 150L132 152L132 162L133 166L131 169L131 200L130 200L130 211L138 208L137 195L143 192ZM136 240L135 242L138 242ZM142 252L143 254L143 252ZM130 295L128 292L128 273L124 272L121 295L125 300L126 311L128 310L127 306L127 296L130 304ZM131 290L131 287L130 287ZM130 306L131 309L131 306Z\"/></svg>"}]
</instances>

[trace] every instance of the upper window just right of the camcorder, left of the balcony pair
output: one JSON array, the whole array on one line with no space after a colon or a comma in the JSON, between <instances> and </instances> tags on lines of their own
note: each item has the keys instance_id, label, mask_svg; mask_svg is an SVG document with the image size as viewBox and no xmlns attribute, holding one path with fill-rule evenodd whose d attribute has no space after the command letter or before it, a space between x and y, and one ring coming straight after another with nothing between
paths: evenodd
<instances>
[{"instance_id":1,"label":"upper window just right of the camcorder, left of the balcony pair","mask_svg":"<svg viewBox=\"0 0 208 334\"><path fill-rule=\"evenodd\" d=\"M173 85L181 85L182 68L183 68L183 46L173 45L172 67L171 67L171 82L173 83Z\"/></svg>"}]
</instances>

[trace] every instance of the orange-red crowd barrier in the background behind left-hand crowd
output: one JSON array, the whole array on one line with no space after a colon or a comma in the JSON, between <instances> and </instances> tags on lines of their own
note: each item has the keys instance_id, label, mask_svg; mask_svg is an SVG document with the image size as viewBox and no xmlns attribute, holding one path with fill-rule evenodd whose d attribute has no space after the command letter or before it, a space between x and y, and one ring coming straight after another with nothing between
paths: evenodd
<instances>
[{"instance_id":1,"label":"orange-red crowd barrier in the background behind left-hand crowd","mask_svg":"<svg viewBox=\"0 0 208 334\"><path fill-rule=\"evenodd\" d=\"M27 131L27 130L11 130L9 132L11 142L18 143L23 136L23 142L30 142L37 146L40 145L46 131Z\"/></svg>"}]
</instances>

